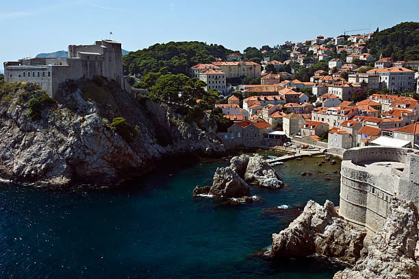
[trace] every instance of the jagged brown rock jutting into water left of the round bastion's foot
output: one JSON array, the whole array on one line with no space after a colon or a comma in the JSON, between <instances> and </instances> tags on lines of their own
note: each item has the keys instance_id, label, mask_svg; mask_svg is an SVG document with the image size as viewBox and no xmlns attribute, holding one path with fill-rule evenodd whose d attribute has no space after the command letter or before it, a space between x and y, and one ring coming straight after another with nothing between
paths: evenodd
<instances>
[{"instance_id":1,"label":"jagged brown rock jutting into water left of the round bastion's foot","mask_svg":"<svg viewBox=\"0 0 419 279\"><path fill-rule=\"evenodd\" d=\"M310 200L303 213L279 234L272 234L272 256L322 254L355 263L366 233L355 230L336 213L332 202Z\"/></svg>"}]
</instances>

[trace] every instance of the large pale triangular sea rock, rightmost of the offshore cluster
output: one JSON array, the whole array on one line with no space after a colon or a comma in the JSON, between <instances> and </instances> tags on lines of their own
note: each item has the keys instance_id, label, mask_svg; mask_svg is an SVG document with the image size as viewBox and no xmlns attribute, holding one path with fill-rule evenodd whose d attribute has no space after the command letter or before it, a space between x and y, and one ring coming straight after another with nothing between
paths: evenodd
<instances>
[{"instance_id":1,"label":"large pale triangular sea rock, rightmost of the offshore cluster","mask_svg":"<svg viewBox=\"0 0 419 279\"><path fill-rule=\"evenodd\" d=\"M244 173L244 181L268 188L281 188L283 182L278 179L277 173L259 154L249 158Z\"/></svg>"}]
</instances>

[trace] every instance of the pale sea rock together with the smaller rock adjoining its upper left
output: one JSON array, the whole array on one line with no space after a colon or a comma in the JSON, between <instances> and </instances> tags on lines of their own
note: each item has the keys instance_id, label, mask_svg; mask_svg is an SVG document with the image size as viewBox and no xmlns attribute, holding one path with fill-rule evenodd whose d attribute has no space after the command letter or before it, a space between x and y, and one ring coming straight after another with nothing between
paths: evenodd
<instances>
[{"instance_id":1,"label":"pale sea rock together with the smaller rock adjoining its upper left","mask_svg":"<svg viewBox=\"0 0 419 279\"><path fill-rule=\"evenodd\" d=\"M230 163L230 168L248 183L274 189L283 186L275 170L259 154L236 156L231 158Z\"/></svg>"}]
</instances>

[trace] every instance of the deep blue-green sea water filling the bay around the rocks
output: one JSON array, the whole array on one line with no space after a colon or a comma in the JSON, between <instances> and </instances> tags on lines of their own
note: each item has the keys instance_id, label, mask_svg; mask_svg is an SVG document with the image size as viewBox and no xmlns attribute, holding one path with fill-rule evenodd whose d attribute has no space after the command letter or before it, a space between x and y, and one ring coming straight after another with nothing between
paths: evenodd
<instances>
[{"instance_id":1,"label":"deep blue-green sea water filling the bay around the rocks","mask_svg":"<svg viewBox=\"0 0 419 279\"><path fill-rule=\"evenodd\" d=\"M324 258L259 256L308 199L338 205L340 166L317 173L320 160L275 167L289 186L252 186L253 204L192 197L227 165L214 160L172 162L118 189L1 184L0 278L331 278L343 267Z\"/></svg>"}]
</instances>

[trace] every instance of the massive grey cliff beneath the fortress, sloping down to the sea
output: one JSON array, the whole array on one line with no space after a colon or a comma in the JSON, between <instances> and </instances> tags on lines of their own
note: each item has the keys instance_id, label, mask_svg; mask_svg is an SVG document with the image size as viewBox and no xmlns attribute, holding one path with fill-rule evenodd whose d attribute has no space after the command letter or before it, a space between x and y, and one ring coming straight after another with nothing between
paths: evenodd
<instances>
[{"instance_id":1,"label":"massive grey cliff beneath the fortress, sloping down to the sea","mask_svg":"<svg viewBox=\"0 0 419 279\"><path fill-rule=\"evenodd\" d=\"M112 126L112 119L125 121ZM51 100L34 84L0 84L0 177L114 185L181 154L223 153L215 134L114 82L67 82Z\"/></svg>"}]
</instances>

